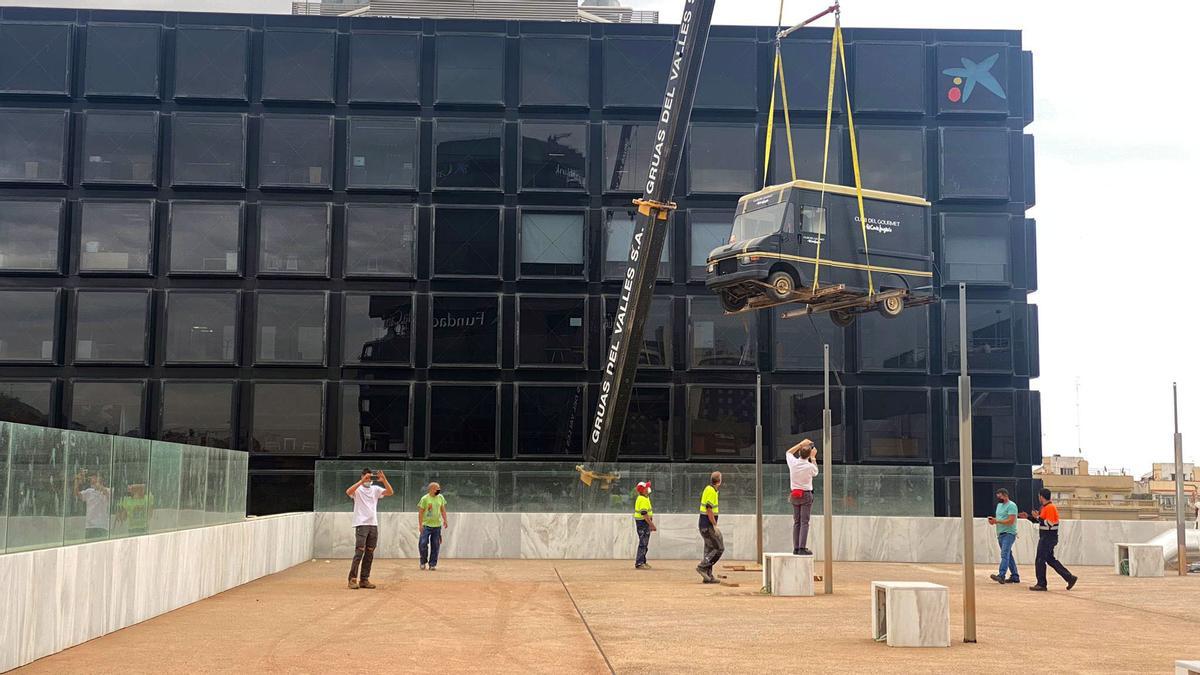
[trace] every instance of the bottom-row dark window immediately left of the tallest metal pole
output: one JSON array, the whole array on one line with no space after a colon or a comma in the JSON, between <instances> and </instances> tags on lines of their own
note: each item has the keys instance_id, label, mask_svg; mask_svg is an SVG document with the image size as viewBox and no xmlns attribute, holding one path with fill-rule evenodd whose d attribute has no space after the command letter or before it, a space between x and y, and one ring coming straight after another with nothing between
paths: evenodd
<instances>
[{"instance_id":1,"label":"bottom-row dark window immediately left of the tallest metal pole","mask_svg":"<svg viewBox=\"0 0 1200 675\"><path fill-rule=\"evenodd\" d=\"M863 459L929 456L929 393L923 389L862 390Z\"/></svg>"}]
</instances>

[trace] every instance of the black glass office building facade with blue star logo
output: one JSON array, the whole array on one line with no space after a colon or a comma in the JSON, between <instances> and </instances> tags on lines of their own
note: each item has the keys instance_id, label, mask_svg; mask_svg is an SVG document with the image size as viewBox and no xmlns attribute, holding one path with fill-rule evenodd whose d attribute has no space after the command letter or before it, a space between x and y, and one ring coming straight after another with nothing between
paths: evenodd
<instances>
[{"instance_id":1,"label":"black glass office building facade with blue star logo","mask_svg":"<svg viewBox=\"0 0 1200 675\"><path fill-rule=\"evenodd\" d=\"M0 8L0 411L248 450L251 513L311 507L317 458L581 456L673 31ZM722 315L706 256L790 171L782 133L762 166L773 29L718 26L623 458L752 461L762 372L779 461L820 436L829 342L835 461L932 466L956 513L965 281L976 503L1024 504L1031 56L1014 31L846 36L863 181L934 203L946 299L847 329ZM802 178L829 38L784 44ZM829 175L853 184L835 101Z\"/></svg>"}]
</instances>

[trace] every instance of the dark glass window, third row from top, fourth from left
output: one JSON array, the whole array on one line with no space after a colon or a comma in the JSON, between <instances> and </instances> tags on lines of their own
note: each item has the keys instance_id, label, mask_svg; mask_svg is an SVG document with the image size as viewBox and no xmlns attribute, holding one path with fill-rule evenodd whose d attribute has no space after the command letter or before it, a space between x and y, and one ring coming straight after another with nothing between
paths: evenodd
<instances>
[{"instance_id":1,"label":"dark glass window, third row from top, fourth from left","mask_svg":"<svg viewBox=\"0 0 1200 675\"><path fill-rule=\"evenodd\" d=\"M259 276L329 275L329 204L260 204L258 217Z\"/></svg>"}]
</instances>

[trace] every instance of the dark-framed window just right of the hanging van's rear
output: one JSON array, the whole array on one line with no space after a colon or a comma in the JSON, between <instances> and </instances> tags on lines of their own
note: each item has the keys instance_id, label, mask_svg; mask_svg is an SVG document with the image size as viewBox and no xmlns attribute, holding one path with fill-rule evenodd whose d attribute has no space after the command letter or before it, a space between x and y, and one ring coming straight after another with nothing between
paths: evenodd
<instances>
[{"instance_id":1,"label":"dark-framed window just right of the hanging van's rear","mask_svg":"<svg viewBox=\"0 0 1200 675\"><path fill-rule=\"evenodd\" d=\"M1008 214L942 214L942 282L1009 285Z\"/></svg>"}]
</instances>

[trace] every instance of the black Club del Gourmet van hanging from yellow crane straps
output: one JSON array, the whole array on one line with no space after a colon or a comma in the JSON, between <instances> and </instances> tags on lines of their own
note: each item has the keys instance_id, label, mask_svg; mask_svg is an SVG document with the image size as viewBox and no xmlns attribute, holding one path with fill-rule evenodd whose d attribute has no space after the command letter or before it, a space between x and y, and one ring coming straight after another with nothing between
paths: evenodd
<instances>
[{"instance_id":1,"label":"black Club del Gourmet van hanging from yellow crane straps","mask_svg":"<svg viewBox=\"0 0 1200 675\"><path fill-rule=\"evenodd\" d=\"M762 306L751 300L763 295L803 301L814 281L868 300L871 286L876 293L929 286L929 202L863 190L863 204L865 243L853 187L797 180L742 197L730 243L708 255L706 285L727 311Z\"/></svg>"}]
</instances>

